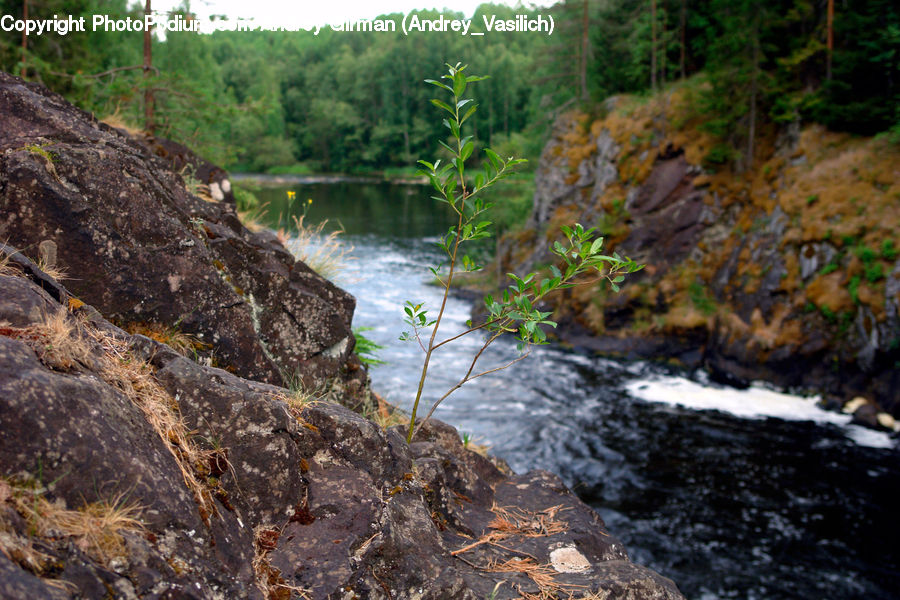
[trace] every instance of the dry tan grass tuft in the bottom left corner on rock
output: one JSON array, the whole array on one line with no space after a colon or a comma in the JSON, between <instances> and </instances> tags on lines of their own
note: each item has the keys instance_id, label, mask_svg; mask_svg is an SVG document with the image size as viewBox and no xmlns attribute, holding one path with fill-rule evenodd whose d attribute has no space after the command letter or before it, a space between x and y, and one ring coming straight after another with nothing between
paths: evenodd
<instances>
[{"instance_id":1,"label":"dry tan grass tuft in the bottom left corner on rock","mask_svg":"<svg viewBox=\"0 0 900 600\"><path fill-rule=\"evenodd\" d=\"M29 536L48 542L71 540L79 550L105 566L126 555L123 533L144 530L141 507L126 504L122 496L70 510L60 501L47 500L42 490L32 484L0 480L0 506L9 507L25 520ZM35 574L44 572L51 560L35 550L30 539L17 535L2 516L0 550Z\"/></svg>"}]
</instances>

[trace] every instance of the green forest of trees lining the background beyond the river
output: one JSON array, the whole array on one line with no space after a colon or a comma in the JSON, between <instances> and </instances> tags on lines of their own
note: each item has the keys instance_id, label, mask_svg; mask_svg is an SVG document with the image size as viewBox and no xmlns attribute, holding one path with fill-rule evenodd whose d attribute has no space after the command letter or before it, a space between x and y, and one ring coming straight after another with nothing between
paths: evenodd
<instances>
[{"instance_id":1,"label":"green forest of trees lining the background beyond the river","mask_svg":"<svg viewBox=\"0 0 900 600\"><path fill-rule=\"evenodd\" d=\"M146 7L2 0L0 8L34 19L139 18ZM893 0L484 4L473 24L481 15L539 13L553 15L553 35L220 31L154 36L145 48L136 32L3 31L0 68L98 118L186 143L236 171L409 169L442 135L430 118L431 92L420 83L458 61L490 75L474 124L481 143L501 154L536 158L554 117L573 104L597 111L610 95L649 95L684 79L702 84L696 110L720 140L710 165L746 164L761 132L797 121L900 139L900 6ZM190 18L189 3L180 14Z\"/></svg>"}]
</instances>

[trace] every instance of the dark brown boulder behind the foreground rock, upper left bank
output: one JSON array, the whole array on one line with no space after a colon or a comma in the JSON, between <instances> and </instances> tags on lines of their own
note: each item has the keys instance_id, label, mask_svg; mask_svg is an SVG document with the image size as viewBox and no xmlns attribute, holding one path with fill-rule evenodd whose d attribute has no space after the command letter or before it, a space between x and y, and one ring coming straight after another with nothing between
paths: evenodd
<instances>
[{"instance_id":1,"label":"dark brown boulder behind the foreground rock, upper left bank","mask_svg":"<svg viewBox=\"0 0 900 600\"><path fill-rule=\"evenodd\" d=\"M3 73L0 122L0 240L34 258L49 242L77 297L123 328L192 334L242 377L364 382L353 297L243 227L224 171Z\"/></svg>"}]
</instances>

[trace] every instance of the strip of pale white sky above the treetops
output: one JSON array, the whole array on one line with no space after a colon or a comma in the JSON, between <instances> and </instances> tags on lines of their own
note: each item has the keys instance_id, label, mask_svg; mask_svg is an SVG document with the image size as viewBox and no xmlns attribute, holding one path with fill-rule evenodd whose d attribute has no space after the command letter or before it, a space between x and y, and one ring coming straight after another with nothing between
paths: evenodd
<instances>
[{"instance_id":1,"label":"strip of pale white sky above the treetops","mask_svg":"<svg viewBox=\"0 0 900 600\"><path fill-rule=\"evenodd\" d=\"M494 0L515 6L517 0ZM381 14L408 13L422 8L447 9L471 17L484 0L191 0L191 11L201 20L209 15L226 14L230 19L254 18L262 25L291 24L309 28L347 20L371 19ZM178 7L182 0L154 0L155 11ZM530 2L527 4L531 4Z\"/></svg>"}]
</instances>

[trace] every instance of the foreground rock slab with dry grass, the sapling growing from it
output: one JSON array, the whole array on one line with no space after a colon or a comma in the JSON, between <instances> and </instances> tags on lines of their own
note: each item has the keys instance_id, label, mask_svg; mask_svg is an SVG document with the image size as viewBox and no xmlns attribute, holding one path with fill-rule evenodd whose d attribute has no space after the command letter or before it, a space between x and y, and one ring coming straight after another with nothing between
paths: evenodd
<instances>
[{"instance_id":1,"label":"foreground rock slab with dry grass, the sapling growing from it","mask_svg":"<svg viewBox=\"0 0 900 600\"><path fill-rule=\"evenodd\" d=\"M557 477L198 364L9 252L0 597L682 598Z\"/></svg>"}]
</instances>

